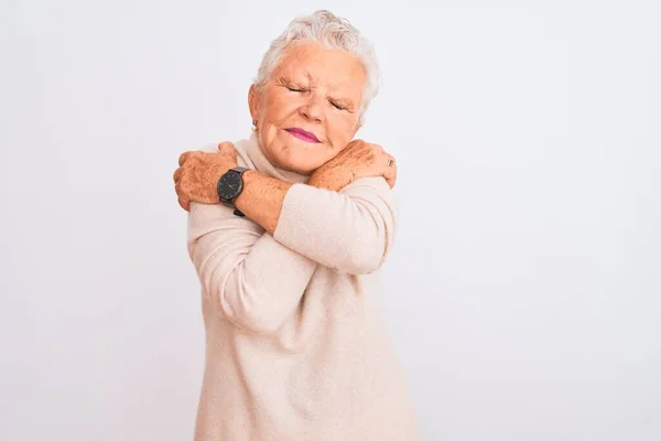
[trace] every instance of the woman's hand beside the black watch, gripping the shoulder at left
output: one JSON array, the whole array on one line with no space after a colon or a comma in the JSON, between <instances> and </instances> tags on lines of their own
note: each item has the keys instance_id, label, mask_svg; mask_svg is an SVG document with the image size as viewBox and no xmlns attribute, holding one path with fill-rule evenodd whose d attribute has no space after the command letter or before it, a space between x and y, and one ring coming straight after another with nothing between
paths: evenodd
<instances>
[{"instance_id":1,"label":"woman's hand beside the black watch, gripping the shoulder at left","mask_svg":"<svg viewBox=\"0 0 661 441\"><path fill-rule=\"evenodd\" d=\"M178 159L172 175L178 204L186 212L191 202L219 203L216 185L220 176L237 166L237 151L231 142L218 144L218 152L187 151Z\"/></svg>"}]
</instances>

